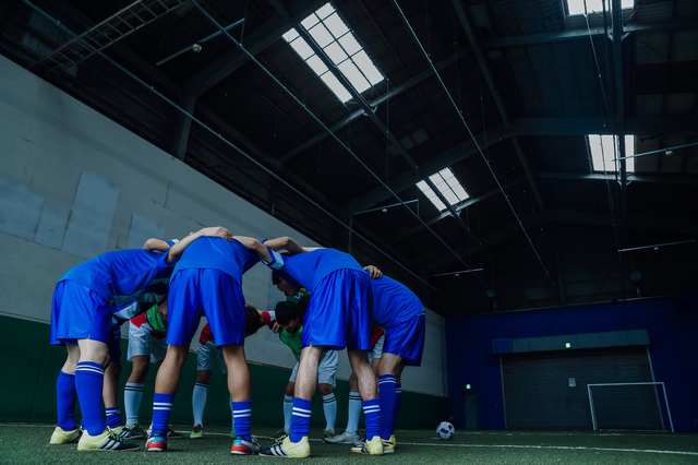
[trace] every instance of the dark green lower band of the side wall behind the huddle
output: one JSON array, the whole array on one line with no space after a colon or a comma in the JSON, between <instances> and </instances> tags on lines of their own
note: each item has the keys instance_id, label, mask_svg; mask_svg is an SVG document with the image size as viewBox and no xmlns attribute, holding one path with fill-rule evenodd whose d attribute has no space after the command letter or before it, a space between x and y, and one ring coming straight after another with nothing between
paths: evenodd
<instances>
[{"instance_id":1,"label":"dark green lower band of the side wall behind the huddle","mask_svg":"<svg viewBox=\"0 0 698 465\"><path fill-rule=\"evenodd\" d=\"M3 380L0 383L0 421L43 421L56 422L56 380L65 361L65 349L51 346L49 325L0 315L0 350ZM121 362L123 369L120 382L120 407L123 412L123 386L131 372L131 363L127 361L128 341L122 339ZM145 390L139 420L149 425L152 418L153 391L157 367L152 366L145 381ZM284 426L284 393L290 370L249 363L252 378L252 424L258 427L281 428ZM409 368L408 368L409 369ZM192 392L196 381L196 354L190 353L182 370L182 377L174 405L170 414L170 422L186 425L193 422ZM337 381L336 429L341 431L347 425L347 404L349 383ZM231 425L229 394L226 377L219 368L208 385L205 425ZM125 415L125 414L124 414ZM80 418L80 410L76 415ZM448 418L448 401L410 392L402 393L402 405L397 420L397 428L433 428ZM324 428L325 417L320 392L313 398L311 427Z\"/></svg>"}]
</instances>

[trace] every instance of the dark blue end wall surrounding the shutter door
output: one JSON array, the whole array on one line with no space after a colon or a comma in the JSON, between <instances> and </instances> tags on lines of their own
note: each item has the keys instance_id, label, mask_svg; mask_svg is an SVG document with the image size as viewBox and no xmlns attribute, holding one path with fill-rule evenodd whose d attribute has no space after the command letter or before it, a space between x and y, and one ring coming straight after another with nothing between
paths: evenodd
<instances>
[{"instance_id":1,"label":"dark blue end wall surrounding the shutter door","mask_svg":"<svg viewBox=\"0 0 698 465\"><path fill-rule=\"evenodd\" d=\"M698 295L498 313L446 321L449 412L464 428L466 384L481 429L504 429L500 358L492 339L647 329L655 381L666 385L676 431L698 431Z\"/></svg>"}]
</instances>

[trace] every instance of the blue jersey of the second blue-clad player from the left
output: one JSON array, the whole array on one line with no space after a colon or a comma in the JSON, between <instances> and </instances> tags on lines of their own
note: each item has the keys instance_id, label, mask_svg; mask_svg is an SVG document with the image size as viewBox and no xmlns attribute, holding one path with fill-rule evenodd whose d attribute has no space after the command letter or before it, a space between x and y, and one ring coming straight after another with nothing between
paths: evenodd
<instances>
[{"instance_id":1,"label":"blue jersey of the second blue-clad player from the left","mask_svg":"<svg viewBox=\"0 0 698 465\"><path fill-rule=\"evenodd\" d=\"M184 250L172 276L186 269L218 270L242 286L242 275L257 262L256 255L234 239L200 237Z\"/></svg>"}]
</instances>

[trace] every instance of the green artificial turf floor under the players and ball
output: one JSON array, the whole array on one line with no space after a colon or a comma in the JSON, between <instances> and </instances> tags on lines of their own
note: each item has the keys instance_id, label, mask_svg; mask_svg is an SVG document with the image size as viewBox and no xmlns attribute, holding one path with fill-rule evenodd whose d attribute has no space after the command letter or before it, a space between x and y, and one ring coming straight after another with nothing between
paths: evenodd
<instances>
[{"instance_id":1,"label":"green artificial turf floor under the players and ball","mask_svg":"<svg viewBox=\"0 0 698 465\"><path fill-rule=\"evenodd\" d=\"M189 439L189 426L174 426L185 439L170 440L165 453L77 452L76 444L49 445L53 426L0 424L2 464L260 464L285 458L231 456L229 429L207 427L204 438ZM273 428L252 431L270 445ZM322 431L311 430L310 458L297 464L698 464L698 434L653 432L457 431L442 441L434 431L399 430L395 454L381 457L350 452L349 445L325 444ZM143 445L145 441L137 441Z\"/></svg>"}]
</instances>

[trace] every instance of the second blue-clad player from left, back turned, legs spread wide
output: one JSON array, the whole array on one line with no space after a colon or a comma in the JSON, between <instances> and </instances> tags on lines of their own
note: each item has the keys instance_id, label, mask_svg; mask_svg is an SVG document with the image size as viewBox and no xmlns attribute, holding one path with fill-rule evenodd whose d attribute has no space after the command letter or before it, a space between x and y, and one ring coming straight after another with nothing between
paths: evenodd
<instances>
[{"instance_id":1,"label":"second blue-clad player from left, back turned, legs spread wide","mask_svg":"<svg viewBox=\"0 0 698 465\"><path fill-rule=\"evenodd\" d=\"M258 240L234 236L230 242L202 238L184 253L172 272L167 299L167 355L155 380L153 432L146 448L167 450L167 425L182 367L202 313L206 314L216 344L221 346L228 368L236 439L231 454L250 455L260 445L250 434L252 392L244 356L245 310L242 275L268 252Z\"/></svg>"}]
</instances>

